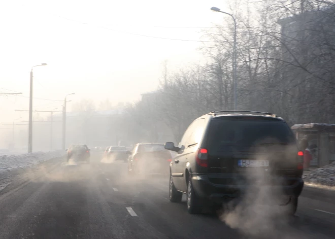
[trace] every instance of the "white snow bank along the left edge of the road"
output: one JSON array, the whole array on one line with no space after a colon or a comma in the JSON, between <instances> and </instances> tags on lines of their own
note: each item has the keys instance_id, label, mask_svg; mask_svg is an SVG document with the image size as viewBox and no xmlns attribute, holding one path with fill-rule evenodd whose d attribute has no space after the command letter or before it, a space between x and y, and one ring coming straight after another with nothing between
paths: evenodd
<instances>
[{"instance_id":1,"label":"white snow bank along the left edge of the road","mask_svg":"<svg viewBox=\"0 0 335 239\"><path fill-rule=\"evenodd\" d=\"M51 158L64 155L64 151L35 152L21 155L1 155L0 174L11 172L18 168L28 168L49 160Z\"/></svg>"}]
</instances>

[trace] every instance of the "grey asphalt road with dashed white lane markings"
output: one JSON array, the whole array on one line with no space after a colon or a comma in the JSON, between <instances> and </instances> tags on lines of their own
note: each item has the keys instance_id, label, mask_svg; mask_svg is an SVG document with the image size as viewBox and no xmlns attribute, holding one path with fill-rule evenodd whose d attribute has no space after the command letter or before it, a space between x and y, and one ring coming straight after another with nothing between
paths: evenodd
<instances>
[{"instance_id":1,"label":"grey asphalt road with dashed white lane markings","mask_svg":"<svg viewBox=\"0 0 335 239\"><path fill-rule=\"evenodd\" d=\"M169 202L168 178L130 177L126 167L54 160L12 183L0 193L0 238L335 238L331 192L305 188L295 217L229 226L219 212L189 215L185 198Z\"/></svg>"}]
</instances>

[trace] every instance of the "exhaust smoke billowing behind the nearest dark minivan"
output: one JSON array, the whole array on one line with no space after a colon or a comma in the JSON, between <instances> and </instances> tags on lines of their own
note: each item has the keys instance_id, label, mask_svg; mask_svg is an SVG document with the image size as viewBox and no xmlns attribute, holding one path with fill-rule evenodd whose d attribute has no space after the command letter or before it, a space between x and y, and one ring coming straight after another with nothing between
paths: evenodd
<instances>
[{"instance_id":1,"label":"exhaust smoke billowing behind the nearest dark minivan","mask_svg":"<svg viewBox=\"0 0 335 239\"><path fill-rule=\"evenodd\" d=\"M284 152L282 157L276 157L278 152ZM294 152L296 148L291 146L257 147L254 158L269 160L272 165L287 165L290 162L284 160ZM293 236L292 230L288 233L289 218L285 215L289 215L291 195L284 194L282 188L284 181L274 175L276 169L270 167L245 169L247 169L243 175L245 180L236 181L241 198L224 204L220 219L248 238L297 238L296 235Z\"/></svg>"}]
</instances>

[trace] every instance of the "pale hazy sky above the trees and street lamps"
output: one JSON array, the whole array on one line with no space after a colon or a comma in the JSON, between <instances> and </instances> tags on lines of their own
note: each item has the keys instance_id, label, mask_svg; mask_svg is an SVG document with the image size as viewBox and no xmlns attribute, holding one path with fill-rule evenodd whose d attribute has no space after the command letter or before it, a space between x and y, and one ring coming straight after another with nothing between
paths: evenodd
<instances>
[{"instance_id":1,"label":"pale hazy sky above the trees and street lamps","mask_svg":"<svg viewBox=\"0 0 335 239\"><path fill-rule=\"evenodd\" d=\"M165 59L170 69L203 61L197 50L202 43L124 32L200 40L201 27L224 17L210 11L212 6L225 7L224 1L198 0L1 1L0 88L25 97L1 96L0 122L28 119L14 110L28 109L29 71L42 62L48 66L33 70L34 97L62 100L75 92L74 102L139 99L157 87ZM4 89L0 92L11 92ZM61 110L62 103L34 99L33 104L37 110Z\"/></svg>"}]
</instances>

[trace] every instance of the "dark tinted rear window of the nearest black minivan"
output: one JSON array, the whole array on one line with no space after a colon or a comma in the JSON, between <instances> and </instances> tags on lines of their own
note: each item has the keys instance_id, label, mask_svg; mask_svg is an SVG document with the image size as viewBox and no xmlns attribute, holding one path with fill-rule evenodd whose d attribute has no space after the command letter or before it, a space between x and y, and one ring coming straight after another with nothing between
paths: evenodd
<instances>
[{"instance_id":1,"label":"dark tinted rear window of the nearest black minivan","mask_svg":"<svg viewBox=\"0 0 335 239\"><path fill-rule=\"evenodd\" d=\"M294 135L283 121L215 119L210 123L208 150L219 152L256 145L295 143Z\"/></svg>"}]
</instances>

